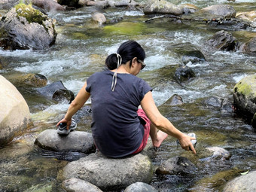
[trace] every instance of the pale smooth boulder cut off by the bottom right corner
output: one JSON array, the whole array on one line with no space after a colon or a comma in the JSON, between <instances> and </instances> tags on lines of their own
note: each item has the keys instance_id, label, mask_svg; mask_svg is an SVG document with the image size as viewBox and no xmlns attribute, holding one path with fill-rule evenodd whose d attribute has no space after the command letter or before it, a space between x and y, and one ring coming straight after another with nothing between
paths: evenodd
<instances>
[{"instance_id":1,"label":"pale smooth boulder cut off by the bottom right corner","mask_svg":"<svg viewBox=\"0 0 256 192\"><path fill-rule=\"evenodd\" d=\"M227 182L223 192L251 192L256 191L256 171L249 172L248 174L241 175L234 178L232 181Z\"/></svg>"}]
</instances>

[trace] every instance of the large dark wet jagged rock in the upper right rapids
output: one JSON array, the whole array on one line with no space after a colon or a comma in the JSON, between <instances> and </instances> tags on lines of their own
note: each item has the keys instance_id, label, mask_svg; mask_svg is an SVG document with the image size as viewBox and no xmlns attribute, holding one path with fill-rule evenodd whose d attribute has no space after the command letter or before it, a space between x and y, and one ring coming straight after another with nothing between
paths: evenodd
<instances>
[{"instance_id":1,"label":"large dark wet jagged rock in the upper right rapids","mask_svg":"<svg viewBox=\"0 0 256 192\"><path fill-rule=\"evenodd\" d=\"M237 50L239 42L230 32L221 30L206 41L206 44L216 50Z\"/></svg>"}]
</instances>

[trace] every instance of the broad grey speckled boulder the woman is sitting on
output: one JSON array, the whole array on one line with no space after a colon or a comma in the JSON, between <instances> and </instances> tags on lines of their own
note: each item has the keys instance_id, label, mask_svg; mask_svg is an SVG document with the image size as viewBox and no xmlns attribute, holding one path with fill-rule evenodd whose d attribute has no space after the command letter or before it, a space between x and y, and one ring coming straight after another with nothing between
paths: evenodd
<instances>
[{"instance_id":1,"label":"broad grey speckled boulder the woman is sitting on","mask_svg":"<svg viewBox=\"0 0 256 192\"><path fill-rule=\"evenodd\" d=\"M123 158L108 158L101 153L90 154L67 164L59 178L80 178L101 190L120 190L138 181L150 183L152 163L145 154Z\"/></svg>"}]
</instances>

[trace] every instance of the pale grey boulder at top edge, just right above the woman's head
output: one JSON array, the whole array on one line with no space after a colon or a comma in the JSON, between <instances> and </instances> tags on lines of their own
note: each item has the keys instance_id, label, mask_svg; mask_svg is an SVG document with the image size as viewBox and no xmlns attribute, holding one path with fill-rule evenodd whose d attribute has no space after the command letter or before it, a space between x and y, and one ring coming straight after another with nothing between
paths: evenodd
<instances>
[{"instance_id":1,"label":"pale grey boulder at top edge, just right above the woman's head","mask_svg":"<svg viewBox=\"0 0 256 192\"><path fill-rule=\"evenodd\" d=\"M183 14L183 9L165 0L149 0L143 8L144 14Z\"/></svg>"}]
</instances>

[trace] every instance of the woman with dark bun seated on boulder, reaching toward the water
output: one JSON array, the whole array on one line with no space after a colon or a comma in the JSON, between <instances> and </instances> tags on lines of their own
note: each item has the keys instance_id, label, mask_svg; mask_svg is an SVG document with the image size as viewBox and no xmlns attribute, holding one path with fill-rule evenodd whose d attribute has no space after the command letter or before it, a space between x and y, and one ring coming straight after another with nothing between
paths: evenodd
<instances>
[{"instance_id":1,"label":"woman with dark bun seated on boulder, reaching toward the water","mask_svg":"<svg viewBox=\"0 0 256 192\"><path fill-rule=\"evenodd\" d=\"M144 59L145 51L136 41L121 44L117 53L105 60L108 70L96 72L87 79L59 123L67 123L69 129L72 116L91 96L93 139L105 156L139 153L145 148L149 135L154 147L159 147L170 135L179 140L184 150L196 154L190 142L194 138L181 133L160 114L151 87L136 77L145 67Z\"/></svg>"}]
</instances>

